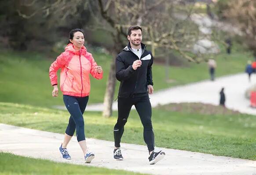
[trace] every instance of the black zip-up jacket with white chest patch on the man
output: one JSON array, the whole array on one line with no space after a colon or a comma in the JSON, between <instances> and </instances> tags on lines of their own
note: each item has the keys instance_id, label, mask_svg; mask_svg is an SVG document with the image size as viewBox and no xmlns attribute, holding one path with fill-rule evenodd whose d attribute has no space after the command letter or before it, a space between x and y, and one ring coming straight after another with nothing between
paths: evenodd
<instances>
[{"instance_id":1,"label":"black zip-up jacket with white chest patch on the man","mask_svg":"<svg viewBox=\"0 0 256 175\"><path fill-rule=\"evenodd\" d=\"M146 45L141 43L142 56L140 60L142 65L136 70L132 68L135 60L139 59L132 52L130 42L117 55L116 58L116 78L121 81L118 97L139 97L148 95L147 85L153 85L152 69L153 55L146 50Z\"/></svg>"}]
</instances>

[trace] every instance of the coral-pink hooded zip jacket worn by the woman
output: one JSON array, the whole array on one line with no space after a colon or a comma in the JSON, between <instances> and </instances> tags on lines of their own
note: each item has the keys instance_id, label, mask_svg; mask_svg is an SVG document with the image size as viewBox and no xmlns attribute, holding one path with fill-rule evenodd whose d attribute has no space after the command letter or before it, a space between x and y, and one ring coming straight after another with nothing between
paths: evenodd
<instances>
[{"instance_id":1,"label":"coral-pink hooded zip jacket worn by the woman","mask_svg":"<svg viewBox=\"0 0 256 175\"><path fill-rule=\"evenodd\" d=\"M80 50L75 50L73 44L66 46L65 52L62 52L51 64L49 76L51 85L58 84L57 71L60 72L60 90L63 95L76 97L85 97L90 95L90 76L96 79L102 79L103 72L98 73L97 63L83 46Z\"/></svg>"}]
</instances>

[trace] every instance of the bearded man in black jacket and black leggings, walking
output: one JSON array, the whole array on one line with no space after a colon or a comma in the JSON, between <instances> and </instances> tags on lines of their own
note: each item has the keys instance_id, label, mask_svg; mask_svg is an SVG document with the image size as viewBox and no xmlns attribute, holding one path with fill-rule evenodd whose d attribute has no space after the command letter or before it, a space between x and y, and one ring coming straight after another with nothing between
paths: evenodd
<instances>
[{"instance_id":1,"label":"bearded man in black jacket and black leggings, walking","mask_svg":"<svg viewBox=\"0 0 256 175\"><path fill-rule=\"evenodd\" d=\"M152 81L152 53L142 44L142 28L128 28L129 43L116 58L116 77L121 81L118 93L118 119L114 126L114 158L123 160L120 142L132 105L143 124L143 137L149 151L150 164L156 164L165 157L165 152L154 151L154 131L151 123L149 95L154 91Z\"/></svg>"}]
</instances>

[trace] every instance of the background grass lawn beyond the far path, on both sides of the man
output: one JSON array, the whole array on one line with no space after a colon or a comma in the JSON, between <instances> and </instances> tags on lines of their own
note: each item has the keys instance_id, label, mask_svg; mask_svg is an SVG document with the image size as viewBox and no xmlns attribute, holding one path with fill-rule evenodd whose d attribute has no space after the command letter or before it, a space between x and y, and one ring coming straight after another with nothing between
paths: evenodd
<instances>
[{"instance_id":1,"label":"background grass lawn beyond the far path, on both sides of the man","mask_svg":"<svg viewBox=\"0 0 256 175\"><path fill-rule=\"evenodd\" d=\"M247 59L251 59L250 52L234 45L231 55L222 52L216 56L216 76L230 73L243 72ZM110 67L110 55L94 52L97 63L103 67L102 80L91 78L91 95L89 103L103 102L106 81ZM0 52L0 102L14 102L21 104L52 107L63 105L62 95L58 98L51 97L52 87L48 71L52 59L43 59L44 56L32 52ZM165 81L165 66L153 65L154 90L173 87L179 84L201 81L209 78L206 63L187 63L186 66L170 66L169 78L172 83ZM117 81L115 98L117 97Z\"/></svg>"}]
</instances>

